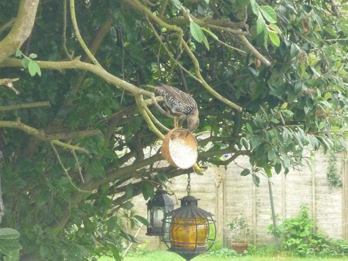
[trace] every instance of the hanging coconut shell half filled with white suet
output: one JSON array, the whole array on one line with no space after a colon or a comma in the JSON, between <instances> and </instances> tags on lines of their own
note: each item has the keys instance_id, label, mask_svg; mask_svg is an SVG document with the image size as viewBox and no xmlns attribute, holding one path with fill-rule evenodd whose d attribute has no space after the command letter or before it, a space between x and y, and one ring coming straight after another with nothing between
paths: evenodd
<instances>
[{"instance_id":1,"label":"hanging coconut shell half filled with white suet","mask_svg":"<svg viewBox=\"0 0 348 261\"><path fill-rule=\"evenodd\" d=\"M197 161L197 140L191 133L185 137L186 134L187 129L174 128L163 140L161 153L176 168L188 169ZM182 147L177 147L177 144L182 144Z\"/></svg>"}]
</instances>

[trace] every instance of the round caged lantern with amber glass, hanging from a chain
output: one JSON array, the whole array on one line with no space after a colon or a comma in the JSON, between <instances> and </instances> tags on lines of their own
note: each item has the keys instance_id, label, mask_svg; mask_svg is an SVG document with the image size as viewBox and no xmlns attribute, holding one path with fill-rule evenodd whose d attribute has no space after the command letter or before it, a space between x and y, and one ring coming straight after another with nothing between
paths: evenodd
<instances>
[{"instance_id":1,"label":"round caged lantern with amber glass, hanging from a chain","mask_svg":"<svg viewBox=\"0 0 348 261\"><path fill-rule=\"evenodd\" d=\"M189 187L190 183L188 196L180 199L181 207L164 214L163 228L169 227L169 234L161 237L169 251L186 260L207 252L216 242L213 214L198 207L199 199L190 195ZM214 238L209 237L211 229L215 230Z\"/></svg>"}]
</instances>

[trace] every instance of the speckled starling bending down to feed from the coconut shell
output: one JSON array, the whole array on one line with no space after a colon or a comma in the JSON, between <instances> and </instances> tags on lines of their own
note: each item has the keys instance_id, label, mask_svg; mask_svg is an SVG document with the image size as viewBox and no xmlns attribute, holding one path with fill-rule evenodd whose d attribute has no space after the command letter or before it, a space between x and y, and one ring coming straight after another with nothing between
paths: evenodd
<instances>
[{"instance_id":1,"label":"speckled starling bending down to feed from the coconut shell","mask_svg":"<svg viewBox=\"0 0 348 261\"><path fill-rule=\"evenodd\" d=\"M151 86L163 97L165 105L173 113L185 115L187 119L187 135L197 129L199 125L198 106L190 94L184 93L178 88L161 84L161 86ZM187 136L186 135L186 136Z\"/></svg>"}]
</instances>

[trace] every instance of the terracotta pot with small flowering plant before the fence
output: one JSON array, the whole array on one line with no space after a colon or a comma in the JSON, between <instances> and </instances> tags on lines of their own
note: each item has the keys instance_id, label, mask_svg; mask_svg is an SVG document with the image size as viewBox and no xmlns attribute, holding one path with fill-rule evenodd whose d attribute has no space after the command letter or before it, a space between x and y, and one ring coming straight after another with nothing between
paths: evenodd
<instances>
[{"instance_id":1,"label":"terracotta pot with small flowering plant before the fence","mask_svg":"<svg viewBox=\"0 0 348 261\"><path fill-rule=\"evenodd\" d=\"M246 237L251 234L246 214L242 211L239 215L232 215L230 222L224 227L224 231L231 242L232 249L238 254L243 254L249 245Z\"/></svg>"}]
</instances>

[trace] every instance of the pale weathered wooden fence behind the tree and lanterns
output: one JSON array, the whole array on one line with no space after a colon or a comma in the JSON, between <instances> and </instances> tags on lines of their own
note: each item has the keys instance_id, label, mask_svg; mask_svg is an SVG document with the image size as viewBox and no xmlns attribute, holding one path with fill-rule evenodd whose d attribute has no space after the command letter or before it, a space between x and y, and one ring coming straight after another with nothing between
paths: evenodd
<instances>
[{"instance_id":1,"label":"pale weathered wooden fence behind the tree and lanterns","mask_svg":"<svg viewBox=\"0 0 348 261\"><path fill-rule=\"evenodd\" d=\"M323 151L317 151L314 165L303 168L303 171L291 169L286 177L283 173L273 173L271 182L278 223L282 223L287 217L298 215L300 205L307 203L319 231L331 237L348 239L348 168L342 160L345 157L343 153L337 156L337 169L342 169L343 182L343 186L339 188L329 188L326 175L329 153L324 155ZM249 158L238 157L236 163L238 165L232 163L228 166L220 188L214 183L211 169L203 176L191 174L191 193L201 199L198 201L199 207L215 214L218 237L221 239L223 226L229 221L230 216L244 211L253 229L248 241L254 244L274 243L274 238L267 230L272 223L267 179L259 175L260 186L256 187L251 175L240 176L243 168L251 167ZM176 177L171 181L169 187L175 192L176 197L179 199L185 196L187 176ZM175 200L175 197L172 196L172 199ZM137 213L146 217L144 198L140 195L132 201ZM136 230L137 228L134 228L130 231L131 234L134 235ZM141 241L150 240L151 248L163 248L158 238L145 236L145 230L146 228L142 229L138 238Z\"/></svg>"}]
</instances>

